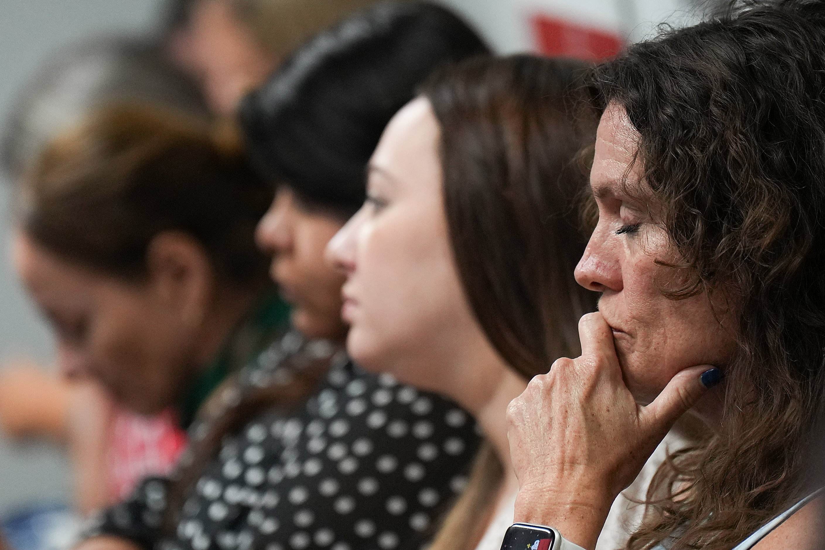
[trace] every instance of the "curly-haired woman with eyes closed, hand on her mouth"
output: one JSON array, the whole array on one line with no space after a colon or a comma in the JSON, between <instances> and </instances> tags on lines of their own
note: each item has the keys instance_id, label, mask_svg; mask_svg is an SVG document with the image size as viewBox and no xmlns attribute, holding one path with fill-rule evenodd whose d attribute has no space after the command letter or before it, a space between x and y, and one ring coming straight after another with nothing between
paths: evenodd
<instances>
[{"instance_id":1,"label":"curly-haired woman with eyes closed, hand on her mouth","mask_svg":"<svg viewBox=\"0 0 825 550\"><path fill-rule=\"evenodd\" d=\"M823 2L739 2L596 70L576 276L600 313L512 403L516 520L592 548L690 411L705 435L659 469L629 548L820 548L823 20Z\"/></svg>"}]
</instances>

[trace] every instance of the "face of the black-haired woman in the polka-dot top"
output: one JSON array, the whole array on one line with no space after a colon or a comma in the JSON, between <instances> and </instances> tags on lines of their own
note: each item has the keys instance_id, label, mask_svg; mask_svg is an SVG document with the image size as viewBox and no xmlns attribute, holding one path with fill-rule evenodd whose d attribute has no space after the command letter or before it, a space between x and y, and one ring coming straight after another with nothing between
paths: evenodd
<instances>
[{"instance_id":1,"label":"face of the black-haired woman in the polka-dot top","mask_svg":"<svg viewBox=\"0 0 825 550\"><path fill-rule=\"evenodd\" d=\"M287 186L258 224L258 246L272 254L272 279L293 307L295 327L306 336L341 340L347 334L341 319L344 277L324 259L327 243L342 225L336 216L304 204Z\"/></svg>"}]
</instances>

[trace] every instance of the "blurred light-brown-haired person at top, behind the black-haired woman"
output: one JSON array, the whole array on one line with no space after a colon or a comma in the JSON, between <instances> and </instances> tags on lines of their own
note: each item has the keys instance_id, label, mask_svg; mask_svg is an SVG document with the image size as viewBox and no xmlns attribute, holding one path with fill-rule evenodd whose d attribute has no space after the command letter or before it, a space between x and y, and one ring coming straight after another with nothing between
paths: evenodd
<instances>
[{"instance_id":1,"label":"blurred light-brown-haired person at top, behind the black-haired woman","mask_svg":"<svg viewBox=\"0 0 825 550\"><path fill-rule=\"evenodd\" d=\"M375 0L176 0L165 45L203 87L210 108L233 115L287 54Z\"/></svg>"}]
</instances>

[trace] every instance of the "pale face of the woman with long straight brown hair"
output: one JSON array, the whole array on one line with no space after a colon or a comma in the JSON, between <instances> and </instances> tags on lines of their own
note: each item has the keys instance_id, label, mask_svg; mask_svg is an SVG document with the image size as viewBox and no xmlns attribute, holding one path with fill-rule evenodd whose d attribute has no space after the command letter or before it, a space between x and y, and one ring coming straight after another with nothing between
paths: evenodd
<instances>
[{"instance_id":1,"label":"pale face of the woman with long straight brown hair","mask_svg":"<svg viewBox=\"0 0 825 550\"><path fill-rule=\"evenodd\" d=\"M370 161L364 206L329 246L347 275L343 317L352 358L434 390L444 386L439 377L450 377L456 354L494 355L453 259L439 140L427 100L399 111Z\"/></svg>"}]
</instances>

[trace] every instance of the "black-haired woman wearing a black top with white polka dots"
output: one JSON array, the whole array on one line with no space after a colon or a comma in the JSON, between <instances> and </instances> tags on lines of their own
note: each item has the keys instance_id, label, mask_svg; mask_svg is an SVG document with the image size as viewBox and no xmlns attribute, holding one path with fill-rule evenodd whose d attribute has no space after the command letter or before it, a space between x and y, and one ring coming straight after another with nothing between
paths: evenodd
<instances>
[{"instance_id":1,"label":"black-haired woman wearing a black top with white polka dots","mask_svg":"<svg viewBox=\"0 0 825 550\"><path fill-rule=\"evenodd\" d=\"M296 330L206 403L179 477L148 480L81 548L427 540L462 486L474 422L340 351L342 277L323 251L363 202L365 163L395 110L434 68L487 51L445 9L389 2L310 40L244 101L247 147L277 188L257 240L274 256Z\"/></svg>"}]
</instances>

